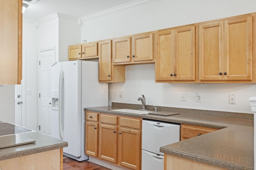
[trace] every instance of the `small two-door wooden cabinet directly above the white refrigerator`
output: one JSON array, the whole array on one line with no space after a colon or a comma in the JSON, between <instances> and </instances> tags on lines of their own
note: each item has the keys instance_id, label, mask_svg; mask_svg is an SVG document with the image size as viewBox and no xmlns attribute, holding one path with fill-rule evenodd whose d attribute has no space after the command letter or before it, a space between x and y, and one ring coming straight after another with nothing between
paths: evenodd
<instances>
[{"instance_id":1,"label":"small two-door wooden cabinet directly above the white refrigerator","mask_svg":"<svg viewBox=\"0 0 256 170\"><path fill-rule=\"evenodd\" d=\"M68 47L68 59L94 59L98 58L98 42L70 45Z\"/></svg>"}]
</instances>

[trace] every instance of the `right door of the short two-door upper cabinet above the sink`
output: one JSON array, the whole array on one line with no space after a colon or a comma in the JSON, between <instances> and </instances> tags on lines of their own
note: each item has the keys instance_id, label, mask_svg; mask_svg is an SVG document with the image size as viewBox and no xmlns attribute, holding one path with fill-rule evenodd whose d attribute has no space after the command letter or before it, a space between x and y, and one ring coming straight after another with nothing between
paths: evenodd
<instances>
[{"instance_id":1,"label":"right door of the short two-door upper cabinet above the sink","mask_svg":"<svg viewBox=\"0 0 256 170\"><path fill-rule=\"evenodd\" d=\"M132 37L132 61L153 60L153 33Z\"/></svg>"}]
</instances>

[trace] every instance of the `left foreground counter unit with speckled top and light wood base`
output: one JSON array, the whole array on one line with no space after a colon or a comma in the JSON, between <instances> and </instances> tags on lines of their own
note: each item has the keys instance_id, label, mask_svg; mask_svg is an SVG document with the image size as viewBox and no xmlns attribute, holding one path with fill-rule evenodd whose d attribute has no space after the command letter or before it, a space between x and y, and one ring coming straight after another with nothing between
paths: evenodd
<instances>
[{"instance_id":1,"label":"left foreground counter unit with speckled top and light wood base","mask_svg":"<svg viewBox=\"0 0 256 170\"><path fill-rule=\"evenodd\" d=\"M17 141L28 143L2 146L1 170L62 170L62 148L68 146L67 142L34 131L0 136L0 144Z\"/></svg>"}]
</instances>

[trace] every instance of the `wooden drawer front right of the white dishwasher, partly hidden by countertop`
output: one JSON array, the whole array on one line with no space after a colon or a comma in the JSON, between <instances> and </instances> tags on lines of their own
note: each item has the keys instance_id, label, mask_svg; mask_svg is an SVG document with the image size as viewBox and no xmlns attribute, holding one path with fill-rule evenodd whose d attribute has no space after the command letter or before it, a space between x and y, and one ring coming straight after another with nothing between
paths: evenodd
<instances>
[{"instance_id":1,"label":"wooden drawer front right of the white dishwasher, partly hidden by countertop","mask_svg":"<svg viewBox=\"0 0 256 170\"><path fill-rule=\"evenodd\" d=\"M196 137L199 135L204 135L206 133L215 131L217 129L213 128L204 128L204 127L198 127L198 126L181 126L181 140L189 139L192 137Z\"/></svg>"}]
</instances>

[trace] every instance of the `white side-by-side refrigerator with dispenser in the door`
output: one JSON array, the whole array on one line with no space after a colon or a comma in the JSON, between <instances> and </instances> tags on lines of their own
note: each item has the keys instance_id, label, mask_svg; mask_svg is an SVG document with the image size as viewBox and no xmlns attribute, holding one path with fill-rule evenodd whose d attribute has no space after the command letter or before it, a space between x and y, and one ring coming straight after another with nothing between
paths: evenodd
<instances>
[{"instance_id":1,"label":"white side-by-side refrigerator with dispenser in the door","mask_svg":"<svg viewBox=\"0 0 256 170\"><path fill-rule=\"evenodd\" d=\"M51 70L51 136L68 142L63 154L78 161L84 154L85 107L108 106L108 84L98 82L98 62L64 61Z\"/></svg>"}]
</instances>

